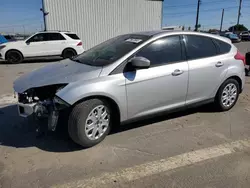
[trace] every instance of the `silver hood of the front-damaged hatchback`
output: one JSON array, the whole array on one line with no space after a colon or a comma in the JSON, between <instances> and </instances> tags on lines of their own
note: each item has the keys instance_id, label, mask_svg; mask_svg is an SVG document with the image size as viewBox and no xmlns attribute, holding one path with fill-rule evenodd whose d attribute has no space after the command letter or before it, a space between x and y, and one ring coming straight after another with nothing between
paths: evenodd
<instances>
[{"instance_id":1,"label":"silver hood of the front-damaged hatchback","mask_svg":"<svg viewBox=\"0 0 250 188\"><path fill-rule=\"evenodd\" d=\"M15 92L23 93L30 88L93 79L98 77L101 71L102 67L89 66L66 59L19 77L13 87Z\"/></svg>"}]
</instances>

